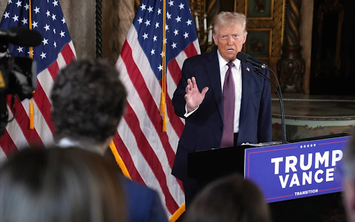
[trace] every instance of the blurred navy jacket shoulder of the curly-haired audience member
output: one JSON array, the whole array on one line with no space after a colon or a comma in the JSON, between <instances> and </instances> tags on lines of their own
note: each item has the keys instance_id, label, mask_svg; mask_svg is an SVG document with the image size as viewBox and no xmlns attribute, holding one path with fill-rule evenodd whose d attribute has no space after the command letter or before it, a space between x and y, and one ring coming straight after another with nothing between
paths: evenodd
<instances>
[{"instance_id":1,"label":"blurred navy jacket shoulder of the curly-haired audience member","mask_svg":"<svg viewBox=\"0 0 355 222\"><path fill-rule=\"evenodd\" d=\"M167 222L168 219L156 191L121 176L128 201L130 222Z\"/></svg>"}]
</instances>

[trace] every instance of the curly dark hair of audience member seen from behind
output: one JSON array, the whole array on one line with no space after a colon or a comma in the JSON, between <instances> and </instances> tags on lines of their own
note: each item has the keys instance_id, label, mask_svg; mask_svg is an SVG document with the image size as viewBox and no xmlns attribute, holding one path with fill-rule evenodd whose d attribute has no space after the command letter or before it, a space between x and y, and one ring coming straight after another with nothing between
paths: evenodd
<instances>
[{"instance_id":1,"label":"curly dark hair of audience member seen from behind","mask_svg":"<svg viewBox=\"0 0 355 222\"><path fill-rule=\"evenodd\" d=\"M105 60L79 60L62 69L51 92L55 137L103 143L114 135L127 92Z\"/></svg>"}]
</instances>

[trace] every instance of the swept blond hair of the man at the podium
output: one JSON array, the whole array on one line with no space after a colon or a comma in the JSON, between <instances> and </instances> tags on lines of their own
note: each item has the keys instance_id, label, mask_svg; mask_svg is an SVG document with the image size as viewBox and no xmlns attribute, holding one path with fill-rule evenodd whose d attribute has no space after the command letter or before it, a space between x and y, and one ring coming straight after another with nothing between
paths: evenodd
<instances>
[{"instance_id":1,"label":"swept blond hair of the man at the podium","mask_svg":"<svg viewBox=\"0 0 355 222\"><path fill-rule=\"evenodd\" d=\"M231 24L241 24L243 26L243 31L247 34L246 26L247 26L247 18L243 13L239 12L219 12L216 17L214 17L213 22L213 33L218 33L218 28L230 26Z\"/></svg>"}]
</instances>

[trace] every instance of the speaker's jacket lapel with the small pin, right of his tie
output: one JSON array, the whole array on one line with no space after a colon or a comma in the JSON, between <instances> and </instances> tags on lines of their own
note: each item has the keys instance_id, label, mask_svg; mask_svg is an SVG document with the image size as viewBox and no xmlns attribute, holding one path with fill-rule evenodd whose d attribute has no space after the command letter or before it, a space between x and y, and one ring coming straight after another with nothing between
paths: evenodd
<instances>
[{"instance_id":1,"label":"speaker's jacket lapel with the small pin, right of his tie","mask_svg":"<svg viewBox=\"0 0 355 222\"><path fill-rule=\"evenodd\" d=\"M249 100L249 95L250 95L250 89L253 85L252 80L253 80L253 76L252 75L256 75L254 74L254 71L252 71L253 68L251 65L245 63L245 62L241 62L241 114L239 116L239 126L243 116L245 114L245 110L247 108L248 105L248 100Z\"/></svg>"}]
</instances>

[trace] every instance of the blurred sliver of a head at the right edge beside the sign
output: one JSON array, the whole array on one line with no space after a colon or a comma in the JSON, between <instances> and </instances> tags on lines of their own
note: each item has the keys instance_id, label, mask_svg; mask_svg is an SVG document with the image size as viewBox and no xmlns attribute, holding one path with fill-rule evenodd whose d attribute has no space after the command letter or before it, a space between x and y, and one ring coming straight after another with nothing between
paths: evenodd
<instances>
[{"instance_id":1,"label":"blurred sliver of a head at the right edge beside the sign","mask_svg":"<svg viewBox=\"0 0 355 222\"><path fill-rule=\"evenodd\" d=\"M343 168L345 178L343 180L344 202L347 216L350 222L355 222L355 137L352 136L345 154L343 155Z\"/></svg>"}]
</instances>

